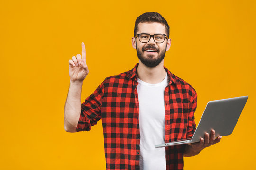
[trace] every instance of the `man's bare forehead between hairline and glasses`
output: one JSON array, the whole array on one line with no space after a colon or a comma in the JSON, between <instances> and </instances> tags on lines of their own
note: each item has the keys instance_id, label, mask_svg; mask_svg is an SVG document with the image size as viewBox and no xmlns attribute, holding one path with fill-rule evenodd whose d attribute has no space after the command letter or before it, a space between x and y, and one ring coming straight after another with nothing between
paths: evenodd
<instances>
[{"instance_id":1,"label":"man's bare forehead between hairline and glasses","mask_svg":"<svg viewBox=\"0 0 256 170\"><path fill-rule=\"evenodd\" d=\"M139 23L137 34L148 33L148 34L166 34L165 25L157 22L153 23Z\"/></svg>"}]
</instances>

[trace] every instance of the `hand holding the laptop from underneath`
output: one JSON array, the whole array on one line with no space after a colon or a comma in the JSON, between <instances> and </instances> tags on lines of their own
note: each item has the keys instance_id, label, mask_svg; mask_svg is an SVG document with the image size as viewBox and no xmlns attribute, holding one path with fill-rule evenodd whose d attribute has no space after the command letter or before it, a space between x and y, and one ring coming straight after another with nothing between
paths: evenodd
<instances>
[{"instance_id":1,"label":"hand holding the laptop from underneath","mask_svg":"<svg viewBox=\"0 0 256 170\"><path fill-rule=\"evenodd\" d=\"M222 136L218 136L216 138L215 130L212 129L210 137L209 137L208 133L205 133L204 138L200 138L199 142L188 144L188 145L191 146L192 150L194 150L195 152L200 152L204 148L209 147L213 144L216 144L216 143L220 142L221 138L222 138Z\"/></svg>"}]
</instances>

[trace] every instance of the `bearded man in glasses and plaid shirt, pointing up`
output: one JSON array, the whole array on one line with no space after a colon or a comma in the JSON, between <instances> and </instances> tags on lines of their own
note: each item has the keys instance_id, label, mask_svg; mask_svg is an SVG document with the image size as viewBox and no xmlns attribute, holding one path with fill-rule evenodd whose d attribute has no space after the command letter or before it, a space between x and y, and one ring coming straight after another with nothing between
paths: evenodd
<instances>
[{"instance_id":1,"label":"bearded man in glasses and plaid shirt, pointing up","mask_svg":"<svg viewBox=\"0 0 256 170\"><path fill-rule=\"evenodd\" d=\"M67 132L89 131L102 119L107 170L183 170L183 156L194 156L218 143L205 134L200 142L155 148L155 144L192 137L197 94L164 67L171 46L169 26L159 13L139 16L132 46L139 63L127 72L107 77L81 104L81 89L89 70L82 56L69 60L70 87L64 108Z\"/></svg>"}]
</instances>

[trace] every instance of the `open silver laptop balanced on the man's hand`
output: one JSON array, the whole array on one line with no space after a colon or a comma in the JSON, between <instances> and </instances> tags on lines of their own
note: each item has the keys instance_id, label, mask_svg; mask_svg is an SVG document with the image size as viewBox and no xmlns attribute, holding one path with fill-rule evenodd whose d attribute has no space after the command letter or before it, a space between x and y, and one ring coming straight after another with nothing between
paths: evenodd
<instances>
[{"instance_id":1,"label":"open silver laptop balanced on the man's hand","mask_svg":"<svg viewBox=\"0 0 256 170\"><path fill-rule=\"evenodd\" d=\"M215 130L216 137L230 135L237 124L247 99L248 96L242 96L208 102L192 138L156 144L155 147L199 142L201 137L204 138L206 132L210 135L211 129Z\"/></svg>"}]
</instances>

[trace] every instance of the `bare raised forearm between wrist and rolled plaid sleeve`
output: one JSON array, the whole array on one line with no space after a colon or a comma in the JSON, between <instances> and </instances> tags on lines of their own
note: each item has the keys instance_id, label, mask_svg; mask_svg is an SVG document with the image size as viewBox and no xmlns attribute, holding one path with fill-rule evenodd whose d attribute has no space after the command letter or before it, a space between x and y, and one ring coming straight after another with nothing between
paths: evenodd
<instances>
[{"instance_id":1,"label":"bare raised forearm between wrist and rolled plaid sleeve","mask_svg":"<svg viewBox=\"0 0 256 170\"><path fill-rule=\"evenodd\" d=\"M64 107L64 128L67 132L76 132L81 112L81 91L83 82L70 81Z\"/></svg>"}]
</instances>

